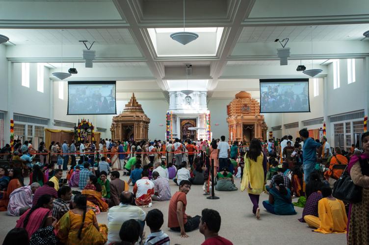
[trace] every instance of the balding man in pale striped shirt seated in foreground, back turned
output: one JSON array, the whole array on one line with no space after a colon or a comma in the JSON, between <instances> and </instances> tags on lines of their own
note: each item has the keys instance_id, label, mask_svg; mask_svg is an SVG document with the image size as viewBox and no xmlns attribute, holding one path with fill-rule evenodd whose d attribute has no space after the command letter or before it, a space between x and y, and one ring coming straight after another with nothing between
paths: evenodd
<instances>
[{"instance_id":1,"label":"balding man in pale striped shirt seated in foreground, back turned","mask_svg":"<svg viewBox=\"0 0 369 245\"><path fill-rule=\"evenodd\" d=\"M122 223L134 219L139 222L141 229L145 224L146 213L134 205L134 196L130 192L123 192L120 195L120 204L109 209L107 213L107 244L119 243Z\"/></svg>"}]
</instances>

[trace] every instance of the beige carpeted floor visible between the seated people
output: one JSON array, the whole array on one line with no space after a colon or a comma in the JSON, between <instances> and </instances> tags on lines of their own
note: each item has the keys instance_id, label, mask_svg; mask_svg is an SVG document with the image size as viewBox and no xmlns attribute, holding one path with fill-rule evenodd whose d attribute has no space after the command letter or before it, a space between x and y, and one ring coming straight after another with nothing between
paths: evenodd
<instances>
[{"instance_id":1,"label":"beige carpeted floor visible between the seated people","mask_svg":"<svg viewBox=\"0 0 369 245\"><path fill-rule=\"evenodd\" d=\"M65 173L64 173L65 174ZM122 179L128 180L128 177L121 176ZM239 187L240 179L235 179L237 187ZM25 179L28 184L28 178ZM178 187L170 182L172 194ZM132 186L130 186L132 191ZM306 223L297 221L301 217L302 208L296 208L297 215L293 216L277 216L267 213L262 207L262 201L267 199L267 195L263 194L260 198L261 219L258 221L252 214L252 204L245 192L215 192L219 196L218 200L206 199L203 196L202 186L192 186L191 191L187 195L186 213L188 215L201 215L204 208L215 209L220 213L222 225L219 234L231 240L235 245L344 245L345 234L320 234L312 232ZM181 245L198 245L204 241L204 236L195 230L187 233L189 238L181 238L179 233L172 232L167 227L169 201L153 202L151 208L143 208L145 212L150 209L158 208L164 214L164 224L162 230L170 237L171 244ZM107 224L107 212L97 215L99 223ZM14 228L18 217L10 217L6 212L0 212L0 244L9 230ZM146 234L150 233L149 228L145 225Z\"/></svg>"}]
</instances>

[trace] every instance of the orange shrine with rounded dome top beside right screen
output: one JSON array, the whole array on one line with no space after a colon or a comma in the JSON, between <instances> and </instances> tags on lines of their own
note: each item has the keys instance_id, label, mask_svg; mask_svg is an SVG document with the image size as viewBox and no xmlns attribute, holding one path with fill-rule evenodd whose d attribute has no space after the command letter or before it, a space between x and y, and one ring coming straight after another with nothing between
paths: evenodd
<instances>
[{"instance_id":1,"label":"orange shrine with rounded dome top beside right screen","mask_svg":"<svg viewBox=\"0 0 369 245\"><path fill-rule=\"evenodd\" d=\"M251 94L241 91L227 105L227 123L229 141L242 141L246 145L250 140L266 139L268 127L264 116L260 114L259 102Z\"/></svg>"}]
</instances>

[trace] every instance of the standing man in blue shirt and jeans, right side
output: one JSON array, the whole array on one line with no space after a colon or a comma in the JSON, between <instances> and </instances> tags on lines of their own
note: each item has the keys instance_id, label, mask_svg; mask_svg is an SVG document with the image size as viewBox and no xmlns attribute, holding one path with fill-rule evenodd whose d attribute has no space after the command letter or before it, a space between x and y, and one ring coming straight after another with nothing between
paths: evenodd
<instances>
[{"instance_id":1,"label":"standing man in blue shirt and jeans, right side","mask_svg":"<svg viewBox=\"0 0 369 245\"><path fill-rule=\"evenodd\" d=\"M320 147L321 144L317 143L312 138L309 138L309 131L306 128L301 129L298 133L304 141L304 145L302 147L304 180L305 184L308 184L310 173L315 170L316 148Z\"/></svg>"}]
</instances>

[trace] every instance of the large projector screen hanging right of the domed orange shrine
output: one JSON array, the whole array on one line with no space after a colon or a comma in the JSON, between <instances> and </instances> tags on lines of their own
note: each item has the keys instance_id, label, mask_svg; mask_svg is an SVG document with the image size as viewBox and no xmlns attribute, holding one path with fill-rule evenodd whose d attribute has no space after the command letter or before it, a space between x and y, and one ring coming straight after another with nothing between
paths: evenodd
<instances>
[{"instance_id":1,"label":"large projector screen hanging right of the domed orange shrine","mask_svg":"<svg viewBox=\"0 0 369 245\"><path fill-rule=\"evenodd\" d=\"M260 113L310 112L309 79L260 79Z\"/></svg>"}]
</instances>

